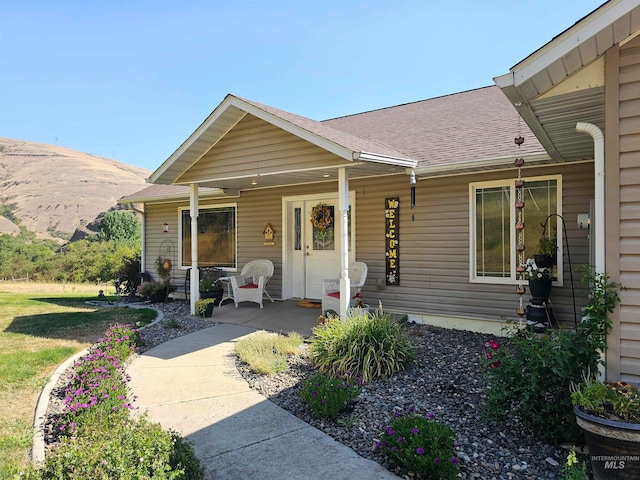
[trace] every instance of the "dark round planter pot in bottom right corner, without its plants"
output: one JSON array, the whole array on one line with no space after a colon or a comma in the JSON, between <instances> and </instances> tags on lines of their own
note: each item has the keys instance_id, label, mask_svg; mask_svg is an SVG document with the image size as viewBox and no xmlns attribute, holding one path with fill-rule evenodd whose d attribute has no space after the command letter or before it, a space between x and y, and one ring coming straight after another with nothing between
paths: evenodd
<instances>
[{"instance_id":1,"label":"dark round planter pot in bottom right corner, without its plants","mask_svg":"<svg viewBox=\"0 0 640 480\"><path fill-rule=\"evenodd\" d=\"M640 423L626 423L589 415L574 407L584 430L595 480L631 480L640 472Z\"/></svg>"}]
</instances>

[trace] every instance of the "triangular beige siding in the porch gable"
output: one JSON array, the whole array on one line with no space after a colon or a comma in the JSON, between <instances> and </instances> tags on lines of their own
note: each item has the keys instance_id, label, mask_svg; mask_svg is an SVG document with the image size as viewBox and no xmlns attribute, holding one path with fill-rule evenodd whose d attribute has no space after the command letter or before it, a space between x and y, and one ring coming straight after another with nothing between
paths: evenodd
<instances>
[{"instance_id":1,"label":"triangular beige siding in the porch gable","mask_svg":"<svg viewBox=\"0 0 640 480\"><path fill-rule=\"evenodd\" d=\"M250 160L247 160L250 159ZM347 164L334 154L260 120L245 116L213 152L187 170L179 183Z\"/></svg>"}]
</instances>

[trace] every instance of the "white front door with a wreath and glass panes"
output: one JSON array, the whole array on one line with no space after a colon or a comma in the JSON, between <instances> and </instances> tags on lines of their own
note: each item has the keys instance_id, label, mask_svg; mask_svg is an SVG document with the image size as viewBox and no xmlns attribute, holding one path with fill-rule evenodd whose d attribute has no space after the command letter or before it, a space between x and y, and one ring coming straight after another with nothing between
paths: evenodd
<instances>
[{"instance_id":1,"label":"white front door with a wreath and glass panes","mask_svg":"<svg viewBox=\"0 0 640 480\"><path fill-rule=\"evenodd\" d=\"M352 197L353 193L349 199L353 212ZM311 215L314 208L318 211L319 205L323 205L325 210L317 216L320 221L317 220L314 226ZM285 211L290 234L286 237L288 266L283 278L284 297L321 299L322 280L340 278L341 222L338 198L324 195L289 199ZM323 224L322 219L327 221ZM352 262L355 260L355 235L350 233L349 261Z\"/></svg>"}]
</instances>

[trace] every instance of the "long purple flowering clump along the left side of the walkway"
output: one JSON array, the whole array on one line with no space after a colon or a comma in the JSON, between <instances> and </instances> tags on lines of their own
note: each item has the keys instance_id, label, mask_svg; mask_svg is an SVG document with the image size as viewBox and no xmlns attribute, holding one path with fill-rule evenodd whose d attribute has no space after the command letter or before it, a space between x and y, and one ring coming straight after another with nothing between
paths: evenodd
<instances>
[{"instance_id":1,"label":"long purple flowering clump along the left side of the walkway","mask_svg":"<svg viewBox=\"0 0 640 480\"><path fill-rule=\"evenodd\" d=\"M125 365L139 343L136 329L114 324L75 362L64 392L64 412L57 422L62 435L76 436L85 425L108 426L114 415L128 416L133 407Z\"/></svg>"}]
</instances>

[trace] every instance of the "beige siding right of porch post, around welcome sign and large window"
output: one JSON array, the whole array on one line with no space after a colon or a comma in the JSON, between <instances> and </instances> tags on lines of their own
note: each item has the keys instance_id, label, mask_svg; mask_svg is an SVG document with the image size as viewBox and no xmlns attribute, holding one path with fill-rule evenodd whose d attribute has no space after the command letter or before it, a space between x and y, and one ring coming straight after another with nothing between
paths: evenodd
<instances>
[{"instance_id":1,"label":"beige siding right of porch post, around welcome sign and large window","mask_svg":"<svg viewBox=\"0 0 640 480\"><path fill-rule=\"evenodd\" d=\"M567 225L573 269L589 262L588 232L578 230L577 215L589 212L593 197L593 164L525 169L523 176L562 174L563 216ZM409 207L406 176L369 179L366 186L352 182L357 203L358 260L369 266L365 295L369 303L404 313L452 315L503 321L517 320L519 298L514 285L469 282L469 183L515 178L515 170L420 180L417 206ZM376 288L384 282L384 199L400 197L400 286ZM411 215L415 220L411 220ZM539 228L541 226L528 226ZM530 254L535 246L529 246ZM565 249L565 262L567 262ZM585 304L581 275L574 272L578 320ZM568 264L564 286L551 292L554 311L563 323L573 325L573 295ZM525 296L525 304L528 297Z\"/></svg>"}]
</instances>

